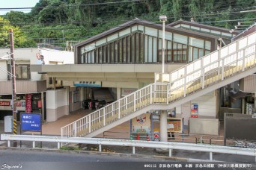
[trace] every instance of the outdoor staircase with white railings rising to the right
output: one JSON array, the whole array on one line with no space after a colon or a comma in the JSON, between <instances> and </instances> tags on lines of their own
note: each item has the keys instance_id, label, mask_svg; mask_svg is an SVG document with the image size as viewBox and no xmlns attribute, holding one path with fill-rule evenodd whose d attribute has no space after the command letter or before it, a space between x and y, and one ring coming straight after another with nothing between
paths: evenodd
<instances>
[{"instance_id":1,"label":"outdoor staircase with white railings rising to the right","mask_svg":"<svg viewBox=\"0 0 256 170\"><path fill-rule=\"evenodd\" d=\"M256 72L256 32L61 127L61 136L93 137L150 110L169 110Z\"/></svg>"}]
</instances>

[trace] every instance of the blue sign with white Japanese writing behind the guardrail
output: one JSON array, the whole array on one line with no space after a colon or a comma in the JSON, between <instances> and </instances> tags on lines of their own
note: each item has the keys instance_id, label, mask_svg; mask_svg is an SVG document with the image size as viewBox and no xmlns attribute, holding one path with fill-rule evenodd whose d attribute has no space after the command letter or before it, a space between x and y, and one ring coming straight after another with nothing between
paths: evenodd
<instances>
[{"instance_id":1,"label":"blue sign with white Japanese writing behind the guardrail","mask_svg":"<svg viewBox=\"0 0 256 170\"><path fill-rule=\"evenodd\" d=\"M40 113L20 113L22 131L41 131Z\"/></svg>"}]
</instances>

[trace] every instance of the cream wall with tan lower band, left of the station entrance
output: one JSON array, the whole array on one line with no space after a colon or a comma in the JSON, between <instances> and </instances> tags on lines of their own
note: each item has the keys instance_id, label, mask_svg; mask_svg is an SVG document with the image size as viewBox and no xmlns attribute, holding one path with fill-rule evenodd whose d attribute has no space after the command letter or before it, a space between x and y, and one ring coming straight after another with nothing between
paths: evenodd
<instances>
[{"instance_id":1,"label":"cream wall with tan lower band, left of the station entrance","mask_svg":"<svg viewBox=\"0 0 256 170\"><path fill-rule=\"evenodd\" d=\"M46 122L53 122L62 116L68 115L67 89L46 91Z\"/></svg>"}]
</instances>

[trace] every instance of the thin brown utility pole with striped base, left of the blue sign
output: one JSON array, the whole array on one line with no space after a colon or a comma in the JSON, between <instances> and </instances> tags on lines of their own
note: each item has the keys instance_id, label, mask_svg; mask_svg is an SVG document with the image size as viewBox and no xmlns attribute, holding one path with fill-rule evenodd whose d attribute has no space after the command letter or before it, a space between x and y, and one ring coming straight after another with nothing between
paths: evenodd
<instances>
[{"instance_id":1,"label":"thin brown utility pole with striped base, left of the blue sign","mask_svg":"<svg viewBox=\"0 0 256 170\"><path fill-rule=\"evenodd\" d=\"M11 82L13 87L13 135L17 134L17 113L16 113L16 77L15 77L15 60L14 60L14 43L13 43L13 29L9 30L10 35L10 66L11 66ZM13 142L13 145L16 146L16 142Z\"/></svg>"}]
</instances>

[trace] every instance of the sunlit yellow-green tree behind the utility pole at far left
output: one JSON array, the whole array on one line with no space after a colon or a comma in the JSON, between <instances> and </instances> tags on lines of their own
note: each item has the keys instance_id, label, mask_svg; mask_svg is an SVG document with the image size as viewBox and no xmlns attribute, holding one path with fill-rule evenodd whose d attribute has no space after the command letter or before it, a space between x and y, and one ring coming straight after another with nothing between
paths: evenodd
<instances>
[{"instance_id":1,"label":"sunlit yellow-green tree behind the utility pole at far left","mask_svg":"<svg viewBox=\"0 0 256 170\"><path fill-rule=\"evenodd\" d=\"M10 21L0 17L0 46L7 47L10 45L9 30L13 29L14 46L15 47L33 47L36 44L28 40L27 37L20 31L19 27L10 25Z\"/></svg>"}]
</instances>

